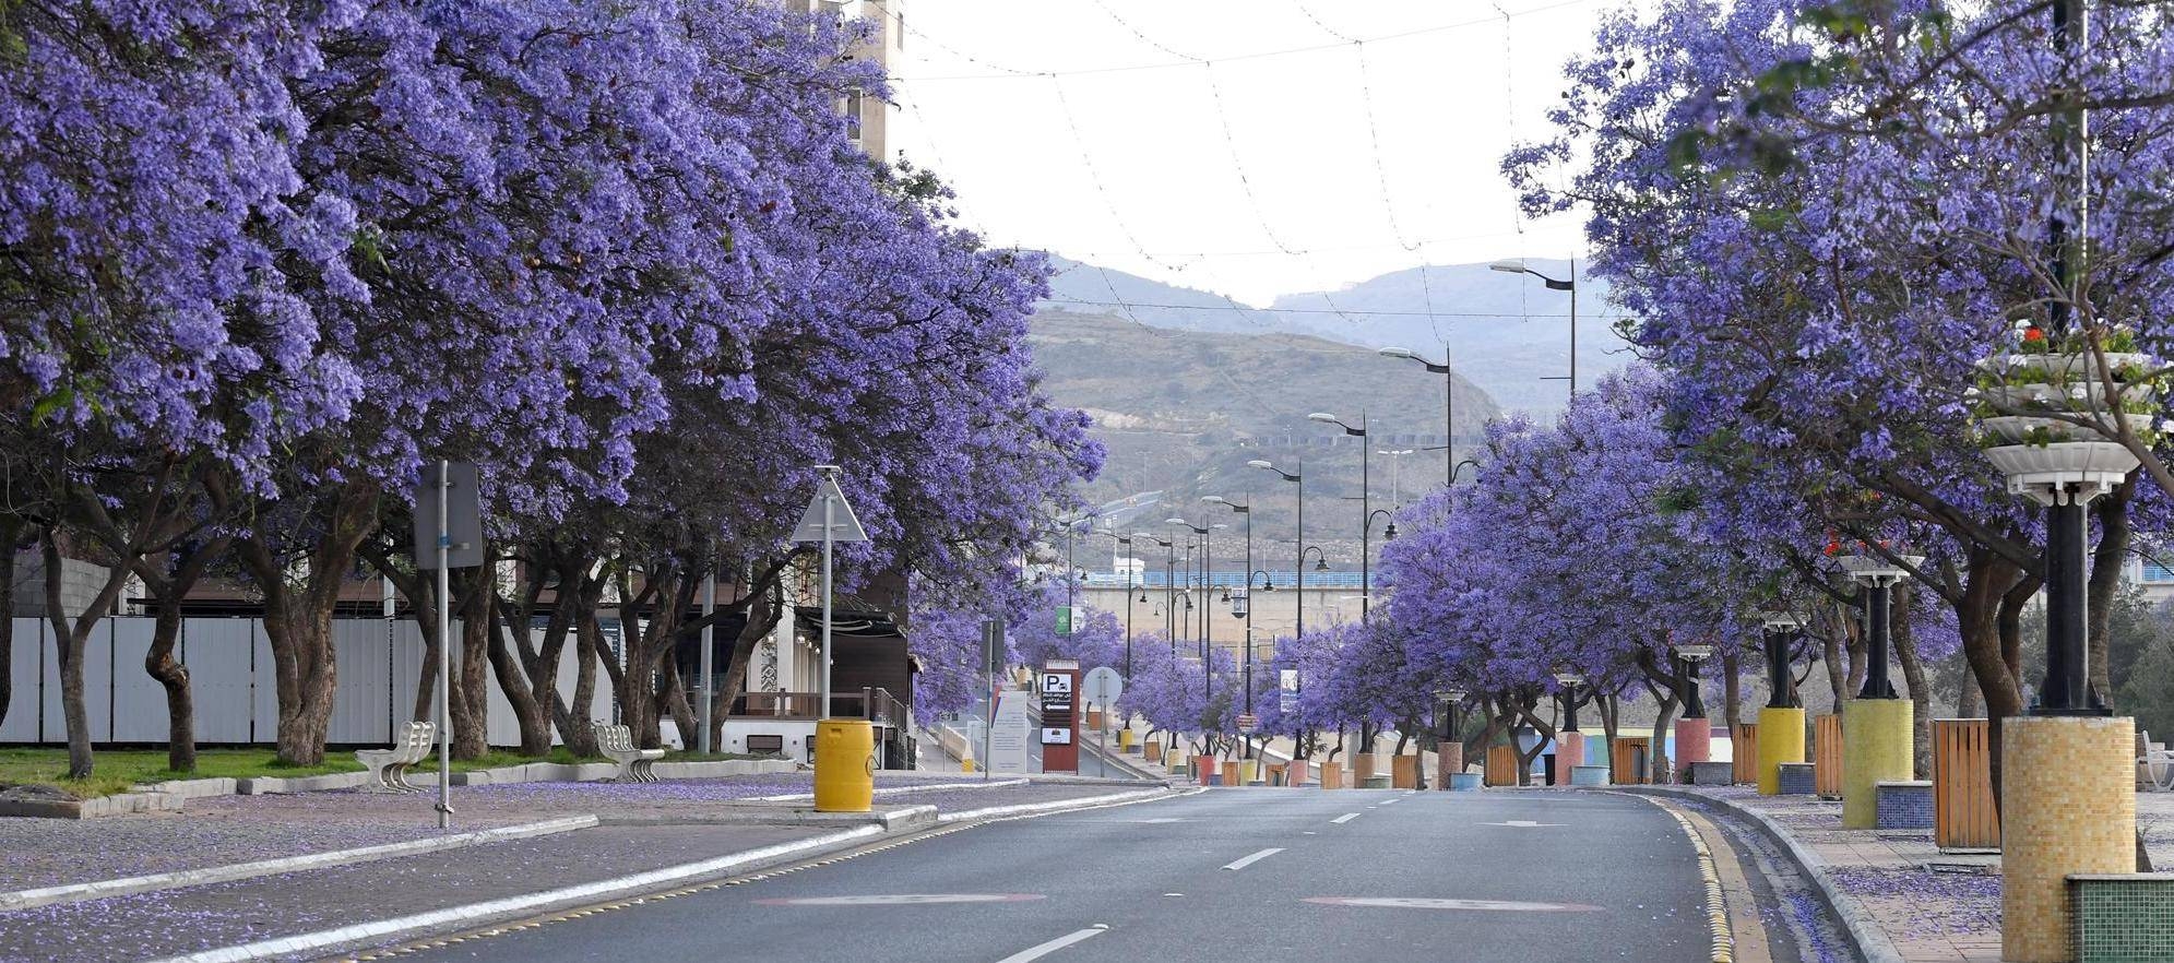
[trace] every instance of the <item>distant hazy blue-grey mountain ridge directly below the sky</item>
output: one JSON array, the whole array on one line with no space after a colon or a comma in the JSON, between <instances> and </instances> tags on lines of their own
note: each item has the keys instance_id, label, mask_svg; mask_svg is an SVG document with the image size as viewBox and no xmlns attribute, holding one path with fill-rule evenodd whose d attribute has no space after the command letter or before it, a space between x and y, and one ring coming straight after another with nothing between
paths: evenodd
<instances>
[{"instance_id":1,"label":"distant hazy blue-grey mountain ridge directly below the sky","mask_svg":"<svg viewBox=\"0 0 2174 963\"><path fill-rule=\"evenodd\" d=\"M1185 333L1313 335L1361 348L1411 348L1450 361L1502 409L1552 415L1561 409L1570 363L1570 293L1539 278L1487 265L1409 267L1341 291L1276 298L1267 309L1191 287L1165 285L1111 267L1050 259L1057 276L1044 309L1098 313ZM1563 261L1530 259L1533 270L1563 278ZM1628 361L1613 330L1607 285L1580 278L1578 383L1591 387ZM1409 363L1407 363L1409 365ZM1552 378L1552 380L1550 380Z\"/></svg>"}]
</instances>

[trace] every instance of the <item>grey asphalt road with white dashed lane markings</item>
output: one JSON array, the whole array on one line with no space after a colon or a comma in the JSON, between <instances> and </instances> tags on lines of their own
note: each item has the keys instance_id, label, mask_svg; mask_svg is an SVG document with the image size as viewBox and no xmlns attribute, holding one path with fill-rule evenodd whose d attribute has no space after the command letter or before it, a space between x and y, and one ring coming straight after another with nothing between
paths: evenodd
<instances>
[{"instance_id":1,"label":"grey asphalt road with white dashed lane markings","mask_svg":"<svg viewBox=\"0 0 2174 963\"><path fill-rule=\"evenodd\" d=\"M1211 789L998 822L428 961L1652 961L1711 952L1698 859L1602 793Z\"/></svg>"}]
</instances>

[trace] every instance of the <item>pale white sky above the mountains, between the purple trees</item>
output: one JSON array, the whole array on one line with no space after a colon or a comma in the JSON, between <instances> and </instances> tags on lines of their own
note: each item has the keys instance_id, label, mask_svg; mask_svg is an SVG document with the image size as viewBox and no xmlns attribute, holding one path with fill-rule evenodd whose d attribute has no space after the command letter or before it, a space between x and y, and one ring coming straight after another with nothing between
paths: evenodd
<instances>
[{"instance_id":1,"label":"pale white sky above the mountains, between the purple trees","mask_svg":"<svg viewBox=\"0 0 2174 963\"><path fill-rule=\"evenodd\" d=\"M1500 159L1548 133L1613 2L909 0L891 150L996 243L1252 304L1583 254L1578 217L1517 215Z\"/></svg>"}]
</instances>

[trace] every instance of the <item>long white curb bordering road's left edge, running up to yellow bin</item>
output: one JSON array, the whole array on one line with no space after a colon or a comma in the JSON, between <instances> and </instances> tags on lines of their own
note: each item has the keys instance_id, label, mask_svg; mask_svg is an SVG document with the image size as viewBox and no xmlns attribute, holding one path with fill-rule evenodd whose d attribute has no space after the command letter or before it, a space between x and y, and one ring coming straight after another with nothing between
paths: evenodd
<instances>
[{"instance_id":1,"label":"long white curb bordering road's left edge, running up to yellow bin","mask_svg":"<svg viewBox=\"0 0 2174 963\"><path fill-rule=\"evenodd\" d=\"M689 883L704 876L717 876L726 870L746 867L750 863L767 863L787 856L809 854L815 850L833 850L846 843L880 835L885 835L880 826L854 826L848 830L824 833L820 837L798 839L791 843L763 846L757 850L733 852L726 856L704 859L698 863L670 865L663 870L639 872L633 876L583 883L576 887L559 887L541 893L509 896L502 900L472 902L467 906L448 906L430 913L413 913L393 920L339 926L330 930L302 933L293 937L263 939L257 943L200 950L180 956L165 956L157 963L239 963L239 961L293 956L293 954L324 954L333 952L339 946L389 941L450 926L480 926L487 920L533 915L552 906L587 904L611 896L637 896L652 889L670 887L674 883Z\"/></svg>"}]
</instances>

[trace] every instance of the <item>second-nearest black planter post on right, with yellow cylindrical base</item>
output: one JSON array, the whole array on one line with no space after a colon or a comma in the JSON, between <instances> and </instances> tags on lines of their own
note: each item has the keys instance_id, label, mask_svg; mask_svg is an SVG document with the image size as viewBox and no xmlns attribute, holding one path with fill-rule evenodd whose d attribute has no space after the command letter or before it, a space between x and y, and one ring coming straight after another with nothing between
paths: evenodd
<instances>
[{"instance_id":1,"label":"second-nearest black planter post on right, with yellow cylindrical base","mask_svg":"<svg viewBox=\"0 0 2174 963\"><path fill-rule=\"evenodd\" d=\"M1881 780L1913 778L1913 706L1887 680L1887 600L1924 556L1900 556L1900 565L1878 554L1846 554L1835 563L1865 587L1865 687L1841 704L1841 824L1872 828Z\"/></svg>"}]
</instances>

